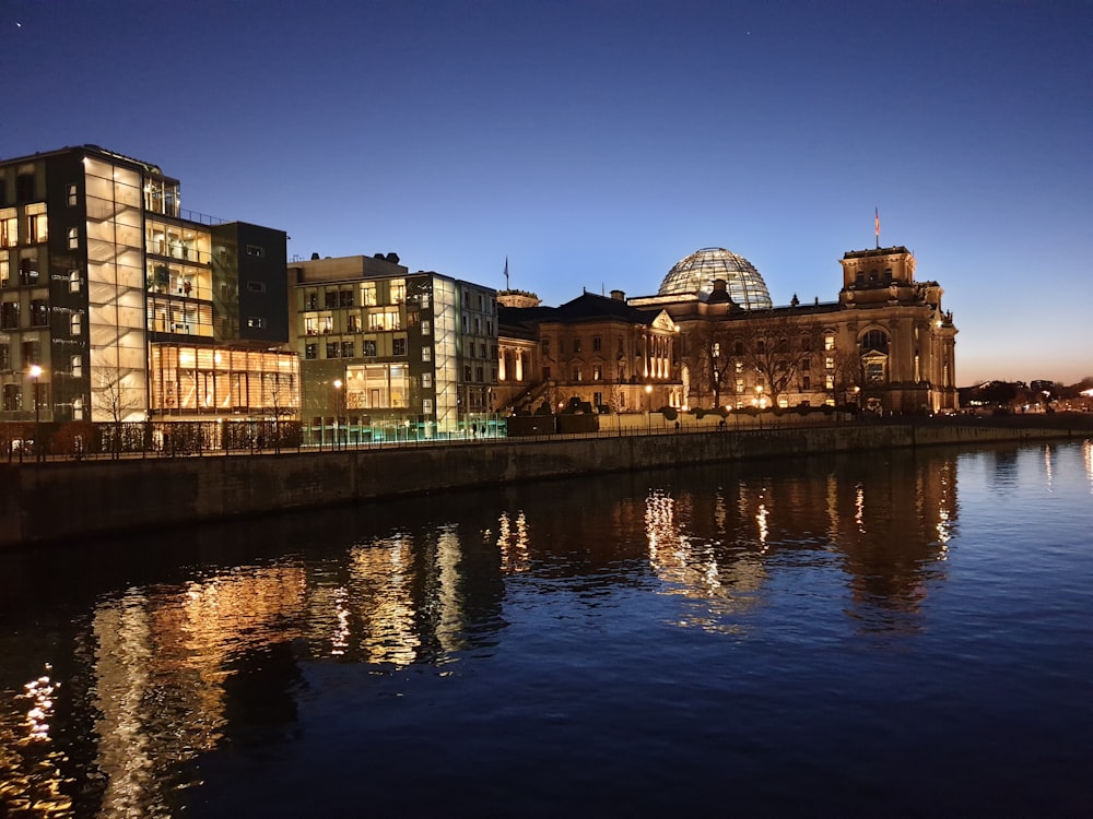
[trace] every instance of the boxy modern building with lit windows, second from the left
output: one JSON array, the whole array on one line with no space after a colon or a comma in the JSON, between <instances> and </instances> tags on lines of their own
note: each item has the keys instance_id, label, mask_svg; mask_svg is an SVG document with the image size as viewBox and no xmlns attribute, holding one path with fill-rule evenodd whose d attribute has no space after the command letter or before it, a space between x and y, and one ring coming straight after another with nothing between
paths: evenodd
<instances>
[{"instance_id":1,"label":"boxy modern building with lit windows, second from the left","mask_svg":"<svg viewBox=\"0 0 1093 819\"><path fill-rule=\"evenodd\" d=\"M450 434L489 413L496 292L395 253L294 261L290 336L309 439ZM408 432L407 430L412 430Z\"/></svg>"}]
</instances>

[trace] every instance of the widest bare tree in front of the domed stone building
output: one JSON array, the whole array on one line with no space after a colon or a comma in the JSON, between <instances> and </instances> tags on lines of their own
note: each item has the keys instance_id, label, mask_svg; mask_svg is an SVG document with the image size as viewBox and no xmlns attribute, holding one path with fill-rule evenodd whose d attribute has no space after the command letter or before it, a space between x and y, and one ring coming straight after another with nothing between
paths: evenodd
<instances>
[{"instance_id":1,"label":"widest bare tree in front of the domed stone building","mask_svg":"<svg viewBox=\"0 0 1093 819\"><path fill-rule=\"evenodd\" d=\"M741 342L742 360L765 382L771 403L790 392L802 370L802 361L820 348L823 330L808 316L792 312L756 316L749 313L734 322L734 337Z\"/></svg>"}]
</instances>

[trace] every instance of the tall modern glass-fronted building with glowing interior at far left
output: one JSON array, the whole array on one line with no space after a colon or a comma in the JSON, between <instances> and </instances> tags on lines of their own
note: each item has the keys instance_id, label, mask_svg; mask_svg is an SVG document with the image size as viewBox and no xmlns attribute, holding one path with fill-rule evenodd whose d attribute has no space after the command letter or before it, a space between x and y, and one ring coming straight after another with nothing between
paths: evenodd
<instances>
[{"instance_id":1,"label":"tall modern glass-fronted building with glowing interior at far left","mask_svg":"<svg viewBox=\"0 0 1093 819\"><path fill-rule=\"evenodd\" d=\"M295 414L284 232L179 201L94 145L0 161L0 419Z\"/></svg>"}]
</instances>

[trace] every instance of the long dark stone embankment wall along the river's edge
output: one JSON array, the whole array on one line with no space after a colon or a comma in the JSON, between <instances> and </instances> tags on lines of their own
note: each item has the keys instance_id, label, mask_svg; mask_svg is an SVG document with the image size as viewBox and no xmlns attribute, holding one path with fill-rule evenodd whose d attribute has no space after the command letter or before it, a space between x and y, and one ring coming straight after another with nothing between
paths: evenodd
<instances>
[{"instance_id":1,"label":"long dark stone embankment wall along the river's edge","mask_svg":"<svg viewBox=\"0 0 1093 819\"><path fill-rule=\"evenodd\" d=\"M1088 435L1048 428L847 425L480 440L280 455L3 464L0 548L599 472Z\"/></svg>"}]
</instances>

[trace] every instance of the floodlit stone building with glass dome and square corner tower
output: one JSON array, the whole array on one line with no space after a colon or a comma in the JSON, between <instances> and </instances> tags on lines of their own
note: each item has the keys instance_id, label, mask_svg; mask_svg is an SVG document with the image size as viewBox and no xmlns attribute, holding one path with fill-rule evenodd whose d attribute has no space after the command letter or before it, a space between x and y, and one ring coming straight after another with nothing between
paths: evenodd
<instances>
[{"instance_id":1,"label":"floodlit stone building with glass dome and square corner tower","mask_svg":"<svg viewBox=\"0 0 1093 819\"><path fill-rule=\"evenodd\" d=\"M794 296L773 307L750 262L706 248L673 266L656 296L630 304L678 325L686 407L955 411L957 331L941 286L915 280L905 247L850 251L841 264L837 302Z\"/></svg>"}]
</instances>

